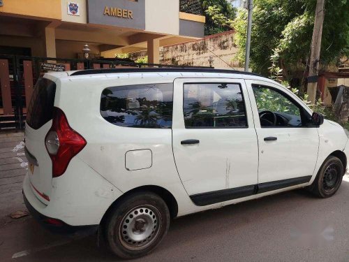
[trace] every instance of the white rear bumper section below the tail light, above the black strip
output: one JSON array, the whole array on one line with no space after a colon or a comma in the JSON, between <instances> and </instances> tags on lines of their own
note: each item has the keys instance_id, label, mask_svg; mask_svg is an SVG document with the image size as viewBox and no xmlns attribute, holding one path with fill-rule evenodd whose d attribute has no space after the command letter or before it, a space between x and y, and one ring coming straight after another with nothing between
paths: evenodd
<instances>
[{"instance_id":1,"label":"white rear bumper section below the tail light, above the black strip","mask_svg":"<svg viewBox=\"0 0 349 262\"><path fill-rule=\"evenodd\" d=\"M99 225L110 205L122 195L77 157L70 161L64 175L52 179L50 201L44 203L35 194L30 176L31 173L27 173L23 181L23 193L27 202L42 216L57 219L70 226Z\"/></svg>"}]
</instances>

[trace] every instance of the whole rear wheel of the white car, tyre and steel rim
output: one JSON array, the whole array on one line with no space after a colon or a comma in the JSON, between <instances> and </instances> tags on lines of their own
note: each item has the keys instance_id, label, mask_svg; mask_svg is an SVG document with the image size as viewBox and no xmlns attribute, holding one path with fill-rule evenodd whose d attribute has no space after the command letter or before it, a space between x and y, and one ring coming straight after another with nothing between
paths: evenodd
<instances>
[{"instance_id":1,"label":"whole rear wheel of the white car, tyre and steel rim","mask_svg":"<svg viewBox=\"0 0 349 262\"><path fill-rule=\"evenodd\" d=\"M107 247L121 259L135 259L155 249L168 233L170 212L163 198L143 191L124 198L105 219Z\"/></svg>"}]
</instances>

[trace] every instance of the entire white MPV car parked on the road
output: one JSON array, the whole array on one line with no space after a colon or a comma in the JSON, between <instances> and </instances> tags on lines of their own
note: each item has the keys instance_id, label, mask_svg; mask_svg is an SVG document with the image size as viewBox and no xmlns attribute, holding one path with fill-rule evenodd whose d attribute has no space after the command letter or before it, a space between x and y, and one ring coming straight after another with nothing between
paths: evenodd
<instances>
[{"instance_id":1,"label":"entire white MPV car parked on the road","mask_svg":"<svg viewBox=\"0 0 349 262\"><path fill-rule=\"evenodd\" d=\"M98 230L143 256L170 219L306 187L332 196L347 131L253 73L119 68L46 73L25 130L24 201L56 231Z\"/></svg>"}]
</instances>

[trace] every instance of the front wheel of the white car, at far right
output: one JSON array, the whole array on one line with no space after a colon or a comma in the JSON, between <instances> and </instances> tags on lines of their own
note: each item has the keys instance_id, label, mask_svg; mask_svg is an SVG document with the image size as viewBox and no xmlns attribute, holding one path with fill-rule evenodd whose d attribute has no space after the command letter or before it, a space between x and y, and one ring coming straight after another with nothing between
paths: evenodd
<instances>
[{"instance_id":1,"label":"front wheel of the white car, at far right","mask_svg":"<svg viewBox=\"0 0 349 262\"><path fill-rule=\"evenodd\" d=\"M310 189L315 196L320 198L333 196L341 186L343 174L344 168L341 160L338 157L329 156L322 163Z\"/></svg>"}]
</instances>

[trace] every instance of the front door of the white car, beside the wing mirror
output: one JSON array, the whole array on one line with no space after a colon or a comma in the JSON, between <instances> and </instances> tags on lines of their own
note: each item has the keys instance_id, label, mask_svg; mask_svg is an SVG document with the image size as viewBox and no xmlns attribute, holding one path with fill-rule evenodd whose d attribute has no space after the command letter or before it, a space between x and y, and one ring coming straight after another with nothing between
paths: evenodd
<instances>
[{"instance_id":1,"label":"front door of the white car, beside the wing mirror","mask_svg":"<svg viewBox=\"0 0 349 262\"><path fill-rule=\"evenodd\" d=\"M258 192L309 182L319 145L311 111L284 87L256 80L246 85L260 153Z\"/></svg>"}]
</instances>

